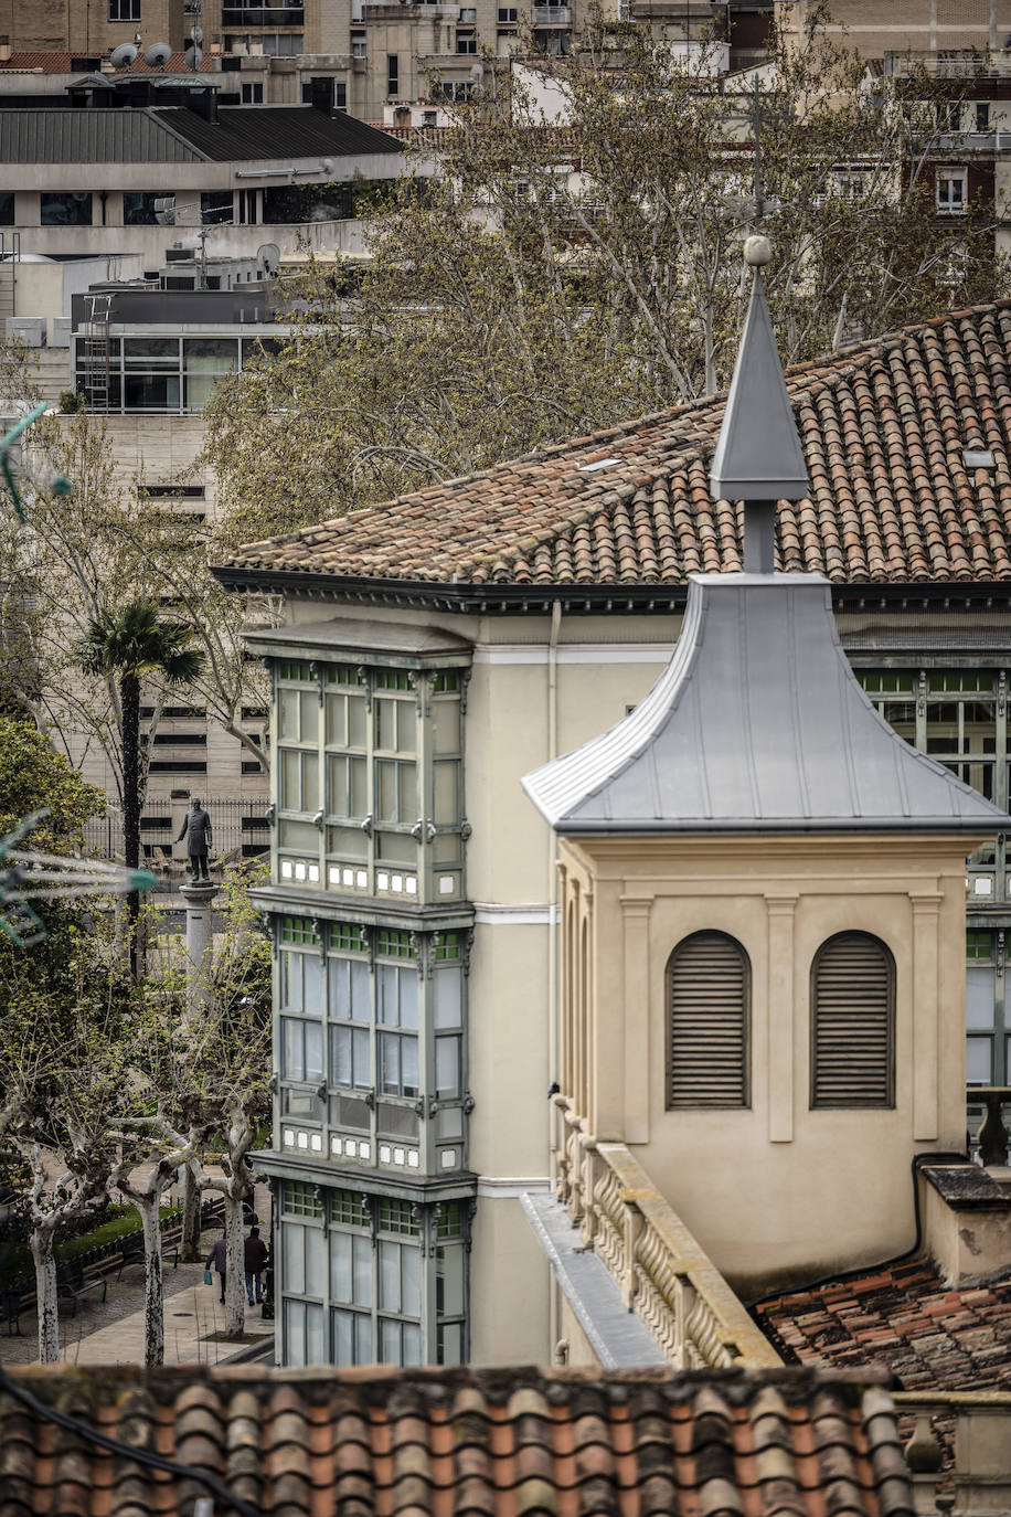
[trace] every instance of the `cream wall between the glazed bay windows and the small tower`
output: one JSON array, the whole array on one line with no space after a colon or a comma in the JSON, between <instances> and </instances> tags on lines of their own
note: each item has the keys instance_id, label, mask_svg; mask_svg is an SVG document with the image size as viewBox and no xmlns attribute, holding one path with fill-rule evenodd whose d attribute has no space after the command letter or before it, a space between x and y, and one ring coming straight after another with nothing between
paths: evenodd
<instances>
[{"instance_id":1,"label":"cream wall between the glazed bay windows and the small tower","mask_svg":"<svg viewBox=\"0 0 1011 1517\"><path fill-rule=\"evenodd\" d=\"M520 778L620 721L662 672L679 619L479 617L290 601L293 625L330 623L335 649L380 616L473 643L465 716L467 897L474 904L468 981L471 1168L480 1176L471 1248L471 1358L549 1362L549 1268L521 1189L550 1171L556 897L555 834ZM343 631L347 630L347 631Z\"/></svg>"}]
</instances>

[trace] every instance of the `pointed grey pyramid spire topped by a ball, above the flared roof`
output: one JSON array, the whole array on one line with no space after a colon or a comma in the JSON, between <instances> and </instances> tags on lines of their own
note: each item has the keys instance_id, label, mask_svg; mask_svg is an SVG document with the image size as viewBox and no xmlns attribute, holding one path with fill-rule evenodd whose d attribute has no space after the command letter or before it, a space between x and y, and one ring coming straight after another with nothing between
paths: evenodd
<instances>
[{"instance_id":1,"label":"pointed grey pyramid spire topped by a ball, above the flared roof","mask_svg":"<svg viewBox=\"0 0 1011 1517\"><path fill-rule=\"evenodd\" d=\"M709 490L714 499L726 501L802 501L808 493L808 466L759 269L755 269L752 299L709 470Z\"/></svg>"}]
</instances>

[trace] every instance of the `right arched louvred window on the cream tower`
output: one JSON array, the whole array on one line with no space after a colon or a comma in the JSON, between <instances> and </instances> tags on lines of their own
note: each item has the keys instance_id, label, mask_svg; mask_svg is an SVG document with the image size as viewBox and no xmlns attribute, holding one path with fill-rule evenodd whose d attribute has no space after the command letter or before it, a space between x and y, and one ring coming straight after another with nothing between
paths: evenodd
<instances>
[{"instance_id":1,"label":"right arched louvred window on the cream tower","mask_svg":"<svg viewBox=\"0 0 1011 1517\"><path fill-rule=\"evenodd\" d=\"M811 1106L894 1106L894 959L837 933L811 968Z\"/></svg>"}]
</instances>

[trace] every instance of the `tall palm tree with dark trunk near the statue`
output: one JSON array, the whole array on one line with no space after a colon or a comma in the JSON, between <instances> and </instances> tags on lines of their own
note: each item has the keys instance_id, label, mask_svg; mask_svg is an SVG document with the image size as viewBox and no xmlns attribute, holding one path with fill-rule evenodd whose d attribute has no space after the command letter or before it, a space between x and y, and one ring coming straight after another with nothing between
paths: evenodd
<instances>
[{"instance_id":1,"label":"tall palm tree with dark trunk near the statue","mask_svg":"<svg viewBox=\"0 0 1011 1517\"><path fill-rule=\"evenodd\" d=\"M123 742L123 848L127 869L141 862L141 680L156 674L167 684L188 684L200 674L203 654L188 648L189 628L162 620L153 601L129 601L118 611L100 611L77 642L76 660L85 674L118 681ZM136 978L139 892L126 898L130 974Z\"/></svg>"}]
</instances>

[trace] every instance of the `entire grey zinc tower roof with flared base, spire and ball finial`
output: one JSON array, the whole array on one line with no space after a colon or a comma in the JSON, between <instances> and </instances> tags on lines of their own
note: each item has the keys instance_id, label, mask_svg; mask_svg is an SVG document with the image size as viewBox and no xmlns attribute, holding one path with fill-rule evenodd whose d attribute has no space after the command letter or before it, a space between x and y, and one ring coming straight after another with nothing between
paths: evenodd
<instances>
[{"instance_id":1,"label":"entire grey zinc tower roof with flared base, spire and ball finial","mask_svg":"<svg viewBox=\"0 0 1011 1517\"><path fill-rule=\"evenodd\" d=\"M768 243L749 238L746 252L758 265ZM966 837L1009 828L1011 818L878 715L840 645L828 579L772 572L775 502L800 499L806 470L758 267L711 481L714 495L744 499L746 572L693 575L678 648L646 699L526 775L552 827Z\"/></svg>"}]
</instances>

